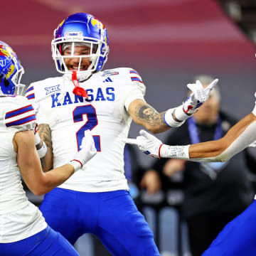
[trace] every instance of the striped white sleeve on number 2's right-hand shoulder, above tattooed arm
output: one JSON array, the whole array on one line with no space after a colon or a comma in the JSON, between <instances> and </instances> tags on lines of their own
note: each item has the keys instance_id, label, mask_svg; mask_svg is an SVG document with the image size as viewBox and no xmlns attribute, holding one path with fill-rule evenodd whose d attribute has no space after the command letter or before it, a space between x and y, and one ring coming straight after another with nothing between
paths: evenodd
<instances>
[{"instance_id":1,"label":"striped white sleeve on number 2's right-hand shoulder, above tattooed arm","mask_svg":"<svg viewBox=\"0 0 256 256\"><path fill-rule=\"evenodd\" d=\"M137 71L129 70L129 79L132 82L132 87L124 101L124 106L128 110L130 103L134 100L144 100L146 86L142 82L142 78Z\"/></svg>"}]
</instances>

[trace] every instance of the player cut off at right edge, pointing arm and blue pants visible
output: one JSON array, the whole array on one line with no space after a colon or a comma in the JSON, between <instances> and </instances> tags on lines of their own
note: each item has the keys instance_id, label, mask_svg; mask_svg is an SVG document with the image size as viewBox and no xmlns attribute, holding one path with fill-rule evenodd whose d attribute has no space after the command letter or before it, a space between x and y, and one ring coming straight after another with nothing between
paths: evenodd
<instances>
[{"instance_id":1,"label":"player cut off at right edge, pointing arm and blue pants visible","mask_svg":"<svg viewBox=\"0 0 256 256\"><path fill-rule=\"evenodd\" d=\"M228 161L247 146L255 146L255 131L256 105L252 112L231 127L223 138L215 141L186 146L169 146L163 144L154 135L141 130L137 139L124 139L124 142L136 144L144 153L158 158L165 157L201 162ZM255 240L256 201L223 228L202 256L256 255Z\"/></svg>"}]
</instances>

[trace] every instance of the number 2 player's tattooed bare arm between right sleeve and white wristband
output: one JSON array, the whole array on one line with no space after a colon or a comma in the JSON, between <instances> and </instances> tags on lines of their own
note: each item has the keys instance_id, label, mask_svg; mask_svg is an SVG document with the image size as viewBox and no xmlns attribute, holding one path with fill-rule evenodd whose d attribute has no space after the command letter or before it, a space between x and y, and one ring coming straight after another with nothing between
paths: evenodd
<instances>
[{"instance_id":1,"label":"number 2 player's tattooed bare arm between right sleeve and white wristband","mask_svg":"<svg viewBox=\"0 0 256 256\"><path fill-rule=\"evenodd\" d=\"M164 113L159 113L143 100L134 100L129 105L129 114L134 122L143 125L152 133L164 132L170 128L164 122Z\"/></svg>"}]
</instances>

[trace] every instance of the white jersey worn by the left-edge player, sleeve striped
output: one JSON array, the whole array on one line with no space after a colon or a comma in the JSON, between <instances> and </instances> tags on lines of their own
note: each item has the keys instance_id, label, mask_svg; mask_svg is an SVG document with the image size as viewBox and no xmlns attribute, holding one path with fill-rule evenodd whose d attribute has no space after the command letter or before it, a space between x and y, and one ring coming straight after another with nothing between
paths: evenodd
<instances>
[{"instance_id":1,"label":"white jersey worn by the left-edge player, sleeve striped","mask_svg":"<svg viewBox=\"0 0 256 256\"><path fill-rule=\"evenodd\" d=\"M0 96L0 243L28 238L47 226L23 190L13 145L16 132L35 125L36 114L26 97Z\"/></svg>"}]
</instances>

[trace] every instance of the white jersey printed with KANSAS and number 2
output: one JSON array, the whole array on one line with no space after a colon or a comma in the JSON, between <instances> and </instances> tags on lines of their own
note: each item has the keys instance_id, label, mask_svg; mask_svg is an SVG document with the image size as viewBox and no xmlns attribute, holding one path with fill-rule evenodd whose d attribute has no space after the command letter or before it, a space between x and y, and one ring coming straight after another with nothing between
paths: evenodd
<instances>
[{"instance_id":1,"label":"white jersey printed with KANSAS and number 2","mask_svg":"<svg viewBox=\"0 0 256 256\"><path fill-rule=\"evenodd\" d=\"M144 100L142 78L131 68L117 68L95 73L80 87L88 98L74 95L73 82L65 75L33 82L26 91L28 100L40 104L38 124L50 125L54 168L73 159L85 130L95 139L96 156L60 187L83 192L129 189L122 139L132 122L129 104Z\"/></svg>"}]
</instances>

